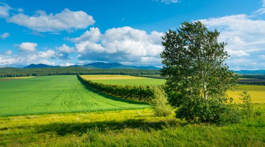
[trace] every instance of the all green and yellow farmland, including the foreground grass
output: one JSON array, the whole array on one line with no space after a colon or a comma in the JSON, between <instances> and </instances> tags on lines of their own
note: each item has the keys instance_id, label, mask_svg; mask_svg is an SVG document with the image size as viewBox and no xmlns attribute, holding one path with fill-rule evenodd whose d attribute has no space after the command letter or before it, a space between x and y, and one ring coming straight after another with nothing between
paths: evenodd
<instances>
[{"instance_id":1,"label":"all green and yellow farmland, including the foreground grass","mask_svg":"<svg viewBox=\"0 0 265 147\"><path fill-rule=\"evenodd\" d=\"M165 82L130 75L81 76L105 84ZM255 110L265 113L265 86L239 85L228 95L240 102L243 89L251 94ZM226 126L189 124L174 113L156 117L148 104L95 91L76 75L2 80L0 109L0 146L265 146L263 115Z\"/></svg>"}]
</instances>

